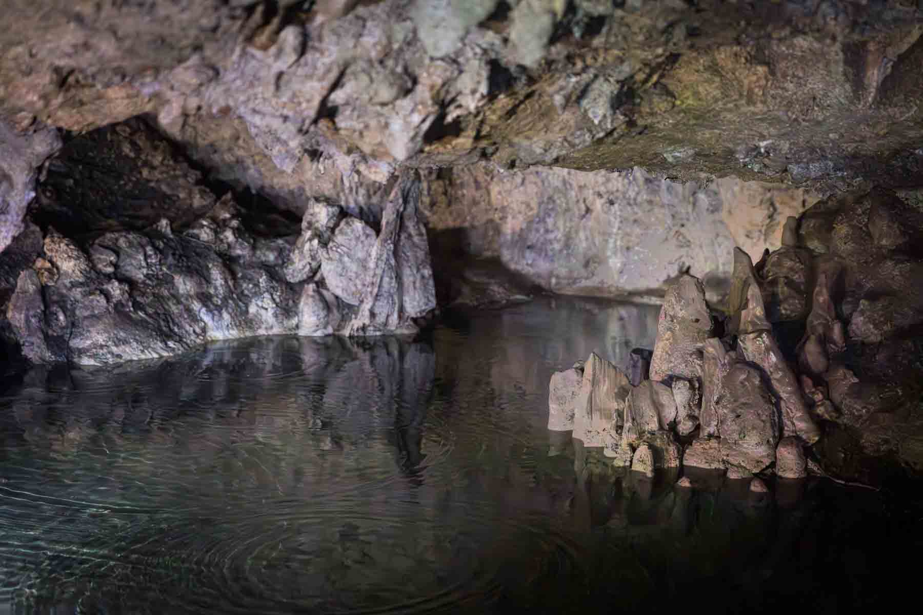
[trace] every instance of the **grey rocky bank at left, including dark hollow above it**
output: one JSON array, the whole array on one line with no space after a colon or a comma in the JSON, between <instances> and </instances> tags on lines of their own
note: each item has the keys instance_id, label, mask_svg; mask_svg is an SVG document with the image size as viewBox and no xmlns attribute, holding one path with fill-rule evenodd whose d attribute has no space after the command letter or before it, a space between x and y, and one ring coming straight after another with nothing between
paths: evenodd
<instances>
[{"instance_id":1,"label":"grey rocky bank at left, including dark hollow above it","mask_svg":"<svg viewBox=\"0 0 923 615\"><path fill-rule=\"evenodd\" d=\"M252 220L230 193L216 198L169 148L150 147L142 123L89 138L104 144L54 160L35 222L0 257L3 333L30 361L100 365L270 334L414 333L436 308L415 172L385 186L377 218L316 200L293 234L270 212Z\"/></svg>"}]
</instances>

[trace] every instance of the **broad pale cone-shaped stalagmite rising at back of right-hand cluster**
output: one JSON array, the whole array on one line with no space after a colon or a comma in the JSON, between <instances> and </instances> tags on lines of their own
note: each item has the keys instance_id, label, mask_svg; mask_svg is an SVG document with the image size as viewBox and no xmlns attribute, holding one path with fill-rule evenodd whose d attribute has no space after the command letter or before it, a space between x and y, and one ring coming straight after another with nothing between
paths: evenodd
<instances>
[{"instance_id":1,"label":"broad pale cone-shaped stalagmite rising at back of right-hand cluster","mask_svg":"<svg viewBox=\"0 0 923 615\"><path fill-rule=\"evenodd\" d=\"M666 290L651 359L651 380L701 376L701 347L711 335L712 317L697 278L683 275Z\"/></svg>"}]
</instances>

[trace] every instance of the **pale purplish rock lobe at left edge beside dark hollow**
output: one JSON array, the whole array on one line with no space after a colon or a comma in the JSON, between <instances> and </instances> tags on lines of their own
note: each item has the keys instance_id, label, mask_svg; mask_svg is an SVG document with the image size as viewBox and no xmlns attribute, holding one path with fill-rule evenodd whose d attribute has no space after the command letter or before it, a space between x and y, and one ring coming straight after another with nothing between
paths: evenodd
<instances>
[{"instance_id":1,"label":"pale purplish rock lobe at left edge beside dark hollow","mask_svg":"<svg viewBox=\"0 0 923 615\"><path fill-rule=\"evenodd\" d=\"M20 131L0 117L0 252L24 228L39 165L60 147L54 128L35 125Z\"/></svg>"}]
</instances>

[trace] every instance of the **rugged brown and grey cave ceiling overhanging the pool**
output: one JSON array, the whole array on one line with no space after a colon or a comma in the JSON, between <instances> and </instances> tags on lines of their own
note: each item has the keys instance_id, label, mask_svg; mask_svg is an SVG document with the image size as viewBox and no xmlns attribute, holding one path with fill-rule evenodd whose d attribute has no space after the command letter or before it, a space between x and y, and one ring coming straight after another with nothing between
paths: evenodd
<instances>
[{"instance_id":1,"label":"rugged brown and grey cave ceiling overhanging the pool","mask_svg":"<svg viewBox=\"0 0 923 615\"><path fill-rule=\"evenodd\" d=\"M282 171L355 152L369 178L488 158L843 186L919 164L920 9L903 1L5 8L5 114L86 131L149 112L257 181L268 165L207 126L242 124Z\"/></svg>"}]
</instances>

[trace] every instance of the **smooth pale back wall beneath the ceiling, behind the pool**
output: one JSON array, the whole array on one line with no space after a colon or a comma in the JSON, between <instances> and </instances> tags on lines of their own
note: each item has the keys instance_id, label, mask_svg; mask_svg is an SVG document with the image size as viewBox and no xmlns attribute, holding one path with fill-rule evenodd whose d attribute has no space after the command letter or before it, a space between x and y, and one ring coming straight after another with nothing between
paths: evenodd
<instances>
[{"instance_id":1,"label":"smooth pale back wall beneath the ceiling, behind the pool","mask_svg":"<svg viewBox=\"0 0 923 615\"><path fill-rule=\"evenodd\" d=\"M555 292L658 301L665 282L687 269L720 300L735 242L757 257L778 248L776 212L797 213L814 200L800 189L682 184L641 169L501 171L480 163L424 178L426 224L434 242L454 245L452 258L496 259ZM787 205L795 200L799 207Z\"/></svg>"}]
</instances>

